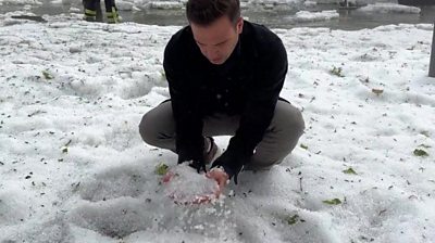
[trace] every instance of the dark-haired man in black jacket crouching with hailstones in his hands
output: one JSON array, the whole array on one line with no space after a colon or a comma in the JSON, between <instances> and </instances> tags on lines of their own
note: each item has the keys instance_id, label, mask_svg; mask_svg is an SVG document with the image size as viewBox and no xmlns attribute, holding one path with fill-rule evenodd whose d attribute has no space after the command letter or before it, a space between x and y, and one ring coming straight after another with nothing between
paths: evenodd
<instances>
[{"instance_id":1,"label":"dark-haired man in black jacket crouching with hailstones in his hands","mask_svg":"<svg viewBox=\"0 0 435 243\"><path fill-rule=\"evenodd\" d=\"M301 113L279 99L287 73L281 39L240 17L239 0L189 0L189 26L166 46L171 100L148 112L145 142L206 171L213 136L233 136L207 176L223 189L245 169L269 169L288 155L304 129Z\"/></svg>"}]
</instances>

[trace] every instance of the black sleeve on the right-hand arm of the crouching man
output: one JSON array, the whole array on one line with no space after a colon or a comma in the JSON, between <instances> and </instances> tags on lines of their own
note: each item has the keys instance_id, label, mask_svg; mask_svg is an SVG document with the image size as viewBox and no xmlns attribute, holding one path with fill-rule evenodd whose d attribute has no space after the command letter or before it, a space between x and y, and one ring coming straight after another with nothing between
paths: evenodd
<instances>
[{"instance_id":1,"label":"black sleeve on the right-hand arm of the crouching man","mask_svg":"<svg viewBox=\"0 0 435 243\"><path fill-rule=\"evenodd\" d=\"M239 128L228 145L229 151L245 156L251 156L263 139L287 74L287 53L277 37L268 44L266 54L261 55L260 52L257 63L254 84L249 87L251 91L240 117Z\"/></svg>"}]
</instances>

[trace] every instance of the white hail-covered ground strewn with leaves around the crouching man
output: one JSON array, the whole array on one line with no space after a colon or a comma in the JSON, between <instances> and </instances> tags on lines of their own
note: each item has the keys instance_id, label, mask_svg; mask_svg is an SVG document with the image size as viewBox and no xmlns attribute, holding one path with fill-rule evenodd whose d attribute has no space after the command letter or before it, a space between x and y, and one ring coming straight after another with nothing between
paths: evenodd
<instances>
[{"instance_id":1,"label":"white hail-covered ground strewn with leaves around the crouching man","mask_svg":"<svg viewBox=\"0 0 435 243\"><path fill-rule=\"evenodd\" d=\"M137 129L169 98L179 27L78 17L0 15L0 242L435 242L432 25L274 29L306 133L215 204L181 206L154 170L176 156Z\"/></svg>"}]
</instances>

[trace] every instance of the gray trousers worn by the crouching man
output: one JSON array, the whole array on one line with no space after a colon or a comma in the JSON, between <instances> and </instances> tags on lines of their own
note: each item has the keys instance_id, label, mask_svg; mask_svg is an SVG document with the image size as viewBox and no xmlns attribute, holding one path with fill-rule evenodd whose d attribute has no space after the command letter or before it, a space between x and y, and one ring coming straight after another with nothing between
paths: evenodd
<instances>
[{"instance_id":1,"label":"gray trousers worn by the crouching man","mask_svg":"<svg viewBox=\"0 0 435 243\"><path fill-rule=\"evenodd\" d=\"M234 136L239 119L239 115L207 116L203 119L202 135ZM304 123L300 111L290 103L278 100L272 122L257 145L247 169L268 169L281 163L295 149L303 129ZM175 120L171 101L163 102L145 114L139 125L139 132L146 143L175 152Z\"/></svg>"}]
</instances>

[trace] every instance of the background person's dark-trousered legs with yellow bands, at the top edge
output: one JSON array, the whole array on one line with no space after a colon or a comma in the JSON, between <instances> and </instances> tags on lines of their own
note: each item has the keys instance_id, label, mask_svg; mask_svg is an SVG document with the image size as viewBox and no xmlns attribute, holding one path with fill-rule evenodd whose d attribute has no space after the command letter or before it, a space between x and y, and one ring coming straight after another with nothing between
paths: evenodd
<instances>
[{"instance_id":1,"label":"background person's dark-trousered legs with yellow bands, at the top edge","mask_svg":"<svg viewBox=\"0 0 435 243\"><path fill-rule=\"evenodd\" d=\"M83 0L85 8L85 21L102 22L100 0ZM104 0L105 17L109 24L120 23L120 15L115 5L115 0Z\"/></svg>"}]
</instances>

